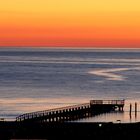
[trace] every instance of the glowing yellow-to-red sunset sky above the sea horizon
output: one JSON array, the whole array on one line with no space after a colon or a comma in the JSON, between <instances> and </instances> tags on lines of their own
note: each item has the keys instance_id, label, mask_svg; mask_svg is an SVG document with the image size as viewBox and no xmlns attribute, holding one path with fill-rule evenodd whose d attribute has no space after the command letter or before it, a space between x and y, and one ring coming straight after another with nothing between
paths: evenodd
<instances>
[{"instance_id":1,"label":"glowing yellow-to-red sunset sky above the sea horizon","mask_svg":"<svg viewBox=\"0 0 140 140\"><path fill-rule=\"evenodd\" d=\"M140 0L1 0L0 46L140 47Z\"/></svg>"}]
</instances>

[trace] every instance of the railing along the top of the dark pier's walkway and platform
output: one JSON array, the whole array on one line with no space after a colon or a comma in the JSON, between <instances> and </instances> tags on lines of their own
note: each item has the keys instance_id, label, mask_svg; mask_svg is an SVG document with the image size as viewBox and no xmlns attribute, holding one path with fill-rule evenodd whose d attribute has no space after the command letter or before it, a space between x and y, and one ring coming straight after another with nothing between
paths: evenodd
<instances>
[{"instance_id":1,"label":"railing along the top of the dark pier's walkway and platform","mask_svg":"<svg viewBox=\"0 0 140 140\"><path fill-rule=\"evenodd\" d=\"M36 111L31 113L25 113L18 117L16 117L16 121L24 121L24 120L31 120L34 118L39 117L50 117L52 115L56 114L63 114L65 112L74 112L77 110L86 110L88 108L91 108L93 105L113 105L113 106L124 106L125 100L90 100L90 103L83 103L78 105L72 105L72 106L66 106L66 107L60 107L55 109L48 109L43 111Z\"/></svg>"}]
</instances>

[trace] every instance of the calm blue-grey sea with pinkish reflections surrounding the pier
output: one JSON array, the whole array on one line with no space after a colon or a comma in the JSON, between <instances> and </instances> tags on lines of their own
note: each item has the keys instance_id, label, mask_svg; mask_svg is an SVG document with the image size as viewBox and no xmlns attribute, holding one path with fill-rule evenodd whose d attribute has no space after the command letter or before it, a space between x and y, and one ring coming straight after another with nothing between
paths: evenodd
<instances>
[{"instance_id":1,"label":"calm blue-grey sea with pinkish reflections surrounding the pier","mask_svg":"<svg viewBox=\"0 0 140 140\"><path fill-rule=\"evenodd\" d=\"M0 118L91 99L125 99L125 112L81 121L140 121L128 112L140 105L140 50L0 49Z\"/></svg>"}]
</instances>

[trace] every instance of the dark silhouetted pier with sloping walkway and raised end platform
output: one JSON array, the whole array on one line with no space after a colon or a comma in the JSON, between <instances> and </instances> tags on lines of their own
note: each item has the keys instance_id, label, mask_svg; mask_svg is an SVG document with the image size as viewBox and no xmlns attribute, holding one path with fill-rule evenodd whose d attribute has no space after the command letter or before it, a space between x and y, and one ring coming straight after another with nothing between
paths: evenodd
<instances>
[{"instance_id":1,"label":"dark silhouetted pier with sloping walkway and raised end platform","mask_svg":"<svg viewBox=\"0 0 140 140\"><path fill-rule=\"evenodd\" d=\"M110 111L123 111L124 100L91 100L89 103L31 112L20 115L17 122L67 122Z\"/></svg>"}]
</instances>

